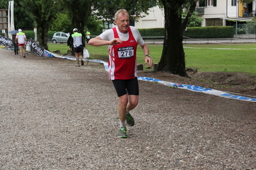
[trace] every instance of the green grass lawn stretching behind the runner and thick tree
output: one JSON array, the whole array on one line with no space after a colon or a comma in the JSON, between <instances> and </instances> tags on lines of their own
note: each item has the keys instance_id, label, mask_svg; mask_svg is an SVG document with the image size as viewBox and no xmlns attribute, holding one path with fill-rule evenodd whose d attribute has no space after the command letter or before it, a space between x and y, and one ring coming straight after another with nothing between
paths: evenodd
<instances>
[{"instance_id":1,"label":"green grass lawn stretching behind the runner and thick tree","mask_svg":"<svg viewBox=\"0 0 256 170\"><path fill-rule=\"evenodd\" d=\"M49 43L49 50L60 50L66 54L69 47L66 43ZM148 45L150 56L158 63L162 55L162 45ZM108 47L87 45L91 59L107 61ZM193 44L183 45L186 67L197 68L200 72L246 72L256 74L256 44ZM144 63L141 47L137 48L137 61Z\"/></svg>"}]
</instances>

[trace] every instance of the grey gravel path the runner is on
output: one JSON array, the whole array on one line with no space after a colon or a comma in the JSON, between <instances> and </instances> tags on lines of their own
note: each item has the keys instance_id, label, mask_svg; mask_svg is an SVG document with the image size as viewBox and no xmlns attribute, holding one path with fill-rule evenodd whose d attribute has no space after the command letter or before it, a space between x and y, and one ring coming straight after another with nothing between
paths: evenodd
<instances>
[{"instance_id":1,"label":"grey gravel path the runner is on","mask_svg":"<svg viewBox=\"0 0 256 170\"><path fill-rule=\"evenodd\" d=\"M102 65L5 49L0 63L0 169L256 169L255 103L142 81L119 139Z\"/></svg>"}]
</instances>

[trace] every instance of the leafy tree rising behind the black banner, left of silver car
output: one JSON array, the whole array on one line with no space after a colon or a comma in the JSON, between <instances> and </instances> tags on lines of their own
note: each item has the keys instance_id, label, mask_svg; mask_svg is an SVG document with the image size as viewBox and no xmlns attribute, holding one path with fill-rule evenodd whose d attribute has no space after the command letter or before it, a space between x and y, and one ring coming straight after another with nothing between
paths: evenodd
<instances>
[{"instance_id":1,"label":"leafy tree rising behind the black banner, left of silver car","mask_svg":"<svg viewBox=\"0 0 256 170\"><path fill-rule=\"evenodd\" d=\"M58 0L22 0L19 3L26 9L26 13L30 15L31 19L35 21L39 45L48 50L47 35L49 27L55 19L56 13L58 13L58 8L60 8Z\"/></svg>"}]
</instances>

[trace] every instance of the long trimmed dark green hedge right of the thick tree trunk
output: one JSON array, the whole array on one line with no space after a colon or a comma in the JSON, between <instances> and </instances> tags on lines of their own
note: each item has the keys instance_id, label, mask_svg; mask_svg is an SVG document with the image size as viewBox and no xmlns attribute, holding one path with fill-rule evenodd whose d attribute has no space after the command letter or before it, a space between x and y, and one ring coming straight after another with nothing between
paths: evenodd
<instances>
[{"instance_id":1,"label":"long trimmed dark green hedge right of the thick tree trunk","mask_svg":"<svg viewBox=\"0 0 256 170\"><path fill-rule=\"evenodd\" d=\"M232 38L234 37L234 28L232 26L187 27L184 36L189 38Z\"/></svg>"}]
</instances>

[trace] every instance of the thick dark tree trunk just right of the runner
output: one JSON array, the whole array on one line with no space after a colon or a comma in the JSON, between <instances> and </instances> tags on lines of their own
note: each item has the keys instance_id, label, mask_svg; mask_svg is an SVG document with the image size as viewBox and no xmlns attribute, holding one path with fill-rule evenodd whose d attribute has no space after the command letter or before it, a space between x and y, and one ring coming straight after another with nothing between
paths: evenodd
<instances>
[{"instance_id":1,"label":"thick dark tree trunk just right of the runner","mask_svg":"<svg viewBox=\"0 0 256 170\"><path fill-rule=\"evenodd\" d=\"M157 71L164 71L187 77L185 71L185 53L182 44L182 4L168 4L165 1L163 1L163 3L166 21L165 36L162 56L158 63Z\"/></svg>"}]
</instances>

